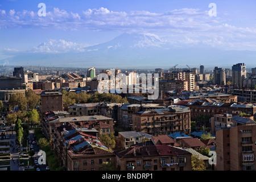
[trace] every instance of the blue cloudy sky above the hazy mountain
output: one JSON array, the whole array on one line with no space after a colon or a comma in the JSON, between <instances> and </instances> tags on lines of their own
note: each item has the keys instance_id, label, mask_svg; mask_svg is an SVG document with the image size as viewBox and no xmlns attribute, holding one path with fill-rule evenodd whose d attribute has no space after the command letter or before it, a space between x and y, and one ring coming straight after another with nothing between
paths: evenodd
<instances>
[{"instance_id":1,"label":"blue cloudy sky above the hazy mountain","mask_svg":"<svg viewBox=\"0 0 256 182\"><path fill-rule=\"evenodd\" d=\"M255 10L253 0L1 0L0 60L21 52L82 52L123 32L152 34L176 47L256 51Z\"/></svg>"}]
</instances>

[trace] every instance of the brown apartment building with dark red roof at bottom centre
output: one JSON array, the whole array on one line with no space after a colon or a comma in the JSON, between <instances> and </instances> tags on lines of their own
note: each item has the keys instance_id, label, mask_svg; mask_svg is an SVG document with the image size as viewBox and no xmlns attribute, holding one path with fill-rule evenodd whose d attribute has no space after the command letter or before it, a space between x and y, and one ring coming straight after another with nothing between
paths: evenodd
<instances>
[{"instance_id":1,"label":"brown apartment building with dark red roof at bottom centre","mask_svg":"<svg viewBox=\"0 0 256 182\"><path fill-rule=\"evenodd\" d=\"M168 145L135 146L115 151L120 171L191 171L191 153Z\"/></svg>"}]
</instances>

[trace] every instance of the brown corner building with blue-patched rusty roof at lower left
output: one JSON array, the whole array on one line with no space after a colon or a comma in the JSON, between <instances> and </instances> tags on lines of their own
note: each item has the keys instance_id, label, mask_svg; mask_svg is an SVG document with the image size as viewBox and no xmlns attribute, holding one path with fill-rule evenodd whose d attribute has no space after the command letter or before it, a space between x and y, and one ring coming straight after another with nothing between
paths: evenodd
<instances>
[{"instance_id":1,"label":"brown corner building with blue-patched rusty roof at lower left","mask_svg":"<svg viewBox=\"0 0 256 182\"><path fill-rule=\"evenodd\" d=\"M104 162L114 162L114 153L97 136L81 133L68 124L56 130L55 156L68 171L100 171Z\"/></svg>"}]
</instances>

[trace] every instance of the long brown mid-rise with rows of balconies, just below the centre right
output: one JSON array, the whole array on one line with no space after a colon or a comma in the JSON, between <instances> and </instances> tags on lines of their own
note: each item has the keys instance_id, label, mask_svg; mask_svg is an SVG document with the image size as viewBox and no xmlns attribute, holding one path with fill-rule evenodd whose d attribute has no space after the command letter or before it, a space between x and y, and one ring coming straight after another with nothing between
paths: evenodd
<instances>
[{"instance_id":1,"label":"long brown mid-rise with rows of balconies, just below the centre right","mask_svg":"<svg viewBox=\"0 0 256 182\"><path fill-rule=\"evenodd\" d=\"M153 136L167 135L177 131L190 133L190 110L172 105L164 109L139 111L133 115L133 130Z\"/></svg>"}]
</instances>

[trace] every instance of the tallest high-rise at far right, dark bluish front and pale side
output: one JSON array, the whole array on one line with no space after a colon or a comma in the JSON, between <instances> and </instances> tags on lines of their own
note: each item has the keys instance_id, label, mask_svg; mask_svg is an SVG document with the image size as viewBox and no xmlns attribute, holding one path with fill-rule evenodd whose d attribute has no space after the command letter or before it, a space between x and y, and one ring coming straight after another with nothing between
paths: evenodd
<instances>
[{"instance_id":1,"label":"tallest high-rise at far right, dark bluish front and pale side","mask_svg":"<svg viewBox=\"0 0 256 182\"><path fill-rule=\"evenodd\" d=\"M234 64L232 67L232 84L234 86L242 86L243 80L246 78L245 63Z\"/></svg>"}]
</instances>

